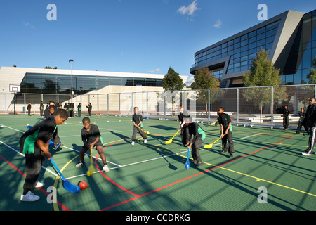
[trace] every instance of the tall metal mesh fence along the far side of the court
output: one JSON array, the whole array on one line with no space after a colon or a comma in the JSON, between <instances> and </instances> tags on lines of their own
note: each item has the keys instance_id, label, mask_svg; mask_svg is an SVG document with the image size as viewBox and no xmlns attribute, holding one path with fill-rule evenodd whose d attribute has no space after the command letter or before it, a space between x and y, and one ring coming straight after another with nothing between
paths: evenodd
<instances>
[{"instance_id":1,"label":"tall metal mesh fence along the far side of the court","mask_svg":"<svg viewBox=\"0 0 316 225\"><path fill-rule=\"evenodd\" d=\"M0 113L27 113L27 104L32 104L31 113L39 114L40 102L44 108L48 101L55 103L81 103L82 113L98 115L131 116L137 106L143 117L160 120L178 120L179 106L190 112L193 120L212 123L217 120L219 107L225 108L235 125L282 127L282 108L290 111L289 128L298 124L298 112L308 107L308 100L315 97L315 84L293 86L241 87L228 89L199 89L182 91L141 91L114 94L84 94L80 96L54 94L0 93Z\"/></svg>"}]
</instances>

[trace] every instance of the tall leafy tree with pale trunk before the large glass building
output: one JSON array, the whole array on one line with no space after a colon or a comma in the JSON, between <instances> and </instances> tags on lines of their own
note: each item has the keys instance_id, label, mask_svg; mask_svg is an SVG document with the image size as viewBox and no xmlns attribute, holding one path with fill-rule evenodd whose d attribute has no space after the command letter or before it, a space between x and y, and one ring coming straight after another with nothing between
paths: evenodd
<instances>
[{"instance_id":1,"label":"tall leafy tree with pale trunk before the large glass building","mask_svg":"<svg viewBox=\"0 0 316 225\"><path fill-rule=\"evenodd\" d=\"M244 86L261 86L261 88L245 89L244 97L260 108L260 122L262 122L262 108L264 104L271 103L271 89L266 86L279 86L282 79L279 77L279 69L268 58L268 52L261 49L257 52L256 58L252 60L250 72L242 76ZM274 93L274 101L278 98L286 98L284 88L279 88ZM271 103L273 104L273 103Z\"/></svg>"}]
</instances>

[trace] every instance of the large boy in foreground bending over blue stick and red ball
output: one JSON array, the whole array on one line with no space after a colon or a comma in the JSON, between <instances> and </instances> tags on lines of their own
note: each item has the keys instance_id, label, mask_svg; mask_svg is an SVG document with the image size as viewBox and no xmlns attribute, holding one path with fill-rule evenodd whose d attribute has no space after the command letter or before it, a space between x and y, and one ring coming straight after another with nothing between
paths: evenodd
<instances>
[{"instance_id":1,"label":"large boy in foreground bending over blue stick and red ball","mask_svg":"<svg viewBox=\"0 0 316 225\"><path fill-rule=\"evenodd\" d=\"M31 129L25 132L20 138L20 153L25 154L25 183L21 201L36 201L39 196L32 193L32 189L37 184L41 166L44 164L45 157L50 159L48 146L51 137L57 130L57 125L67 120L68 115L65 110L59 110L53 117L48 117Z\"/></svg>"}]
</instances>

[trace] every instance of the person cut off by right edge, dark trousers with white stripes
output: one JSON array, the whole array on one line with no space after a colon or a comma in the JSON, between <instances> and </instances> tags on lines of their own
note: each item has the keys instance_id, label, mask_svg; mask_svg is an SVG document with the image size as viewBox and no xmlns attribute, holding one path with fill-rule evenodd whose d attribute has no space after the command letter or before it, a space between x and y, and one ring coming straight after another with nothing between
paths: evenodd
<instances>
[{"instance_id":1,"label":"person cut off by right edge, dark trousers with white stripes","mask_svg":"<svg viewBox=\"0 0 316 225\"><path fill-rule=\"evenodd\" d=\"M310 98L310 105L308 110L306 110L305 118L303 124L308 127L310 137L308 139L308 148L302 153L302 155L310 155L312 149L315 146L316 141L316 100L315 98Z\"/></svg>"}]
</instances>

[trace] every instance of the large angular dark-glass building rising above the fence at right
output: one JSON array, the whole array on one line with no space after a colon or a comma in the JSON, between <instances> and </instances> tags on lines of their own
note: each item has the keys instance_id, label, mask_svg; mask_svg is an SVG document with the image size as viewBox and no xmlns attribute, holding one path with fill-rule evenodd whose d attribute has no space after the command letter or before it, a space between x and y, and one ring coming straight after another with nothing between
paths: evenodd
<instances>
[{"instance_id":1,"label":"large angular dark-glass building rising above the fence at right","mask_svg":"<svg viewBox=\"0 0 316 225\"><path fill-rule=\"evenodd\" d=\"M208 68L221 87L243 86L242 75L261 49L280 68L282 84L306 84L316 57L316 10L287 11L195 53L191 74Z\"/></svg>"}]
</instances>

